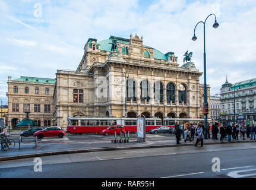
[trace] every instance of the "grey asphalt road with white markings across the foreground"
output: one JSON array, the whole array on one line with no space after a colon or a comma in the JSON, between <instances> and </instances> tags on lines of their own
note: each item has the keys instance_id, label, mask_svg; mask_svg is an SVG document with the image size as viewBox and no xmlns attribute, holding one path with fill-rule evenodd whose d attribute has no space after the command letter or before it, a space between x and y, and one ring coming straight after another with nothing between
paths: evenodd
<instances>
[{"instance_id":1,"label":"grey asphalt road with white markings across the foreground","mask_svg":"<svg viewBox=\"0 0 256 190\"><path fill-rule=\"evenodd\" d=\"M33 158L1 162L0 178L256 178L255 155L254 143L64 154L41 157L42 172Z\"/></svg>"}]
</instances>

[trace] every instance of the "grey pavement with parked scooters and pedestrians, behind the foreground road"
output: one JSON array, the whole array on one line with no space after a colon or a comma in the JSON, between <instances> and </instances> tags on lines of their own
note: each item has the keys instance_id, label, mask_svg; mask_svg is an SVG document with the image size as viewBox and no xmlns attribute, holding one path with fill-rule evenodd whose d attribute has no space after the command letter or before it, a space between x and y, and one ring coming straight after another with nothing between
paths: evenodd
<instances>
[{"instance_id":1,"label":"grey pavement with parked scooters and pedestrians, behind the foreground road","mask_svg":"<svg viewBox=\"0 0 256 190\"><path fill-rule=\"evenodd\" d=\"M10 138L16 142L20 138L20 131L11 131ZM162 148L162 147L182 147L194 145L193 142L180 141L181 144L176 145L176 138L173 134L146 134L146 142L138 143L137 135L131 134L129 143L111 143L113 135L108 137L94 134L94 135L71 135L67 134L64 138L48 137L38 140L37 148L34 143L21 143L19 150L18 143L15 147L7 151L0 151L0 161L25 159L30 157L51 156L58 154L71 153L87 153L95 151L110 151L110 150L132 150L141 148ZM119 138L119 137L118 137ZM218 137L219 138L219 137ZM24 141L31 141L33 137L24 138ZM196 140L196 138L194 139ZM204 146L209 144L229 144L229 143L255 143L255 140L246 138L246 140L239 140L227 142L220 142L219 140L204 140ZM200 147L200 145L199 145Z\"/></svg>"}]
</instances>

